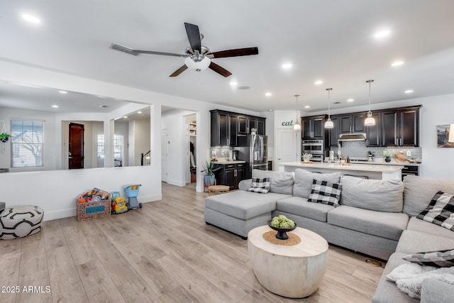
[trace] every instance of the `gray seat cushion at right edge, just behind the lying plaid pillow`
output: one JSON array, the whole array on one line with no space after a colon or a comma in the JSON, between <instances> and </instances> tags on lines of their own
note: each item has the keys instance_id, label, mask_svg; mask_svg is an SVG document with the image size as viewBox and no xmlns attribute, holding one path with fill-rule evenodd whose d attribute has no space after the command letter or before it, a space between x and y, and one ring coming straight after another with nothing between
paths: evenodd
<instances>
[{"instance_id":1,"label":"gray seat cushion at right edge, just behind the lying plaid pillow","mask_svg":"<svg viewBox=\"0 0 454 303\"><path fill-rule=\"evenodd\" d=\"M453 249L454 240L441 236L423 233L421 231L409 231L402 233L397 243L396 251L399 253L419 253L421 251L435 251Z\"/></svg>"}]
</instances>

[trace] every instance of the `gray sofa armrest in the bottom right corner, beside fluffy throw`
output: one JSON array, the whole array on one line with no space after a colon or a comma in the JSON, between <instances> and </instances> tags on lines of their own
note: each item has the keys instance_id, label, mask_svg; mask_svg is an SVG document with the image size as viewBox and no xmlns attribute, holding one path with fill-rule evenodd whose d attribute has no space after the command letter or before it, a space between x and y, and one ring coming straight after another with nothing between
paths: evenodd
<instances>
[{"instance_id":1,"label":"gray sofa armrest in the bottom right corner, beside fluffy throw","mask_svg":"<svg viewBox=\"0 0 454 303\"><path fill-rule=\"evenodd\" d=\"M454 285L435 279L425 279L421 284L421 303L452 302Z\"/></svg>"}]
</instances>

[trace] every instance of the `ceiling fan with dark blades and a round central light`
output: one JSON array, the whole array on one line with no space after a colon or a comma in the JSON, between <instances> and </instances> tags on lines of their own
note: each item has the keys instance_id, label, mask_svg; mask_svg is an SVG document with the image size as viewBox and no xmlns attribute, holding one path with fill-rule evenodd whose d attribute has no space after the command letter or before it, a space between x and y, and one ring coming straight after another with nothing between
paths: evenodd
<instances>
[{"instance_id":1,"label":"ceiling fan with dark blades and a round central light","mask_svg":"<svg viewBox=\"0 0 454 303\"><path fill-rule=\"evenodd\" d=\"M197 72L205 70L206 68L210 68L211 70L217 72L219 75L222 75L223 77L228 77L232 75L232 73L226 70L225 68L217 65L216 63L212 62L211 59L258 55L257 47L237 48L235 50L221 50L219 52L211 53L211 50L209 48L207 48L204 45L201 45L201 40L204 38L204 35L202 35L199 32L199 26L196 26L191 23L184 23L184 27L186 28L187 38L189 40L190 45L186 48L184 54L162 53L155 52L153 50L134 50L133 48L128 48L117 43L112 43L111 48L131 55L151 54L186 57L186 60L184 60L184 65L182 65L182 67L179 67L178 70L175 70L175 72L173 72L172 75L170 75L170 77L177 77L179 74L184 72L184 70L187 70L188 67L191 68L192 70L196 70Z\"/></svg>"}]
</instances>

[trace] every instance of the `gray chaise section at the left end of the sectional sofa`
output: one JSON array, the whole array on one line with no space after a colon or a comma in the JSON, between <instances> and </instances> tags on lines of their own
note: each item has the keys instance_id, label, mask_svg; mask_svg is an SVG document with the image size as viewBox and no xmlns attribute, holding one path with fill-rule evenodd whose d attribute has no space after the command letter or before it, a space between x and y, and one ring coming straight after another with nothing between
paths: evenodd
<instances>
[{"instance_id":1,"label":"gray chaise section at the left end of the sectional sofa","mask_svg":"<svg viewBox=\"0 0 454 303\"><path fill-rule=\"evenodd\" d=\"M282 194L238 190L205 199L204 217L211 224L247 238L251 229L266 225ZM289 196L290 197L290 196Z\"/></svg>"}]
</instances>

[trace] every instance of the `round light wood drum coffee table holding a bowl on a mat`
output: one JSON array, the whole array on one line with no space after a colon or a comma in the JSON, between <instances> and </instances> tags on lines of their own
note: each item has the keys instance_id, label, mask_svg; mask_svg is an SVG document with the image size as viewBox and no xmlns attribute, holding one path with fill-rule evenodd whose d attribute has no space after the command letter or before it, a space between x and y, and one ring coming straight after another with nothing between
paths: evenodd
<instances>
[{"instance_id":1,"label":"round light wood drum coffee table holding a bowl on a mat","mask_svg":"<svg viewBox=\"0 0 454 303\"><path fill-rule=\"evenodd\" d=\"M328 242L304 228L291 233L301 238L294 246L273 244L263 238L271 231L259 226L248 233L248 250L258 282L270 292L283 297L302 298L313 294L325 275Z\"/></svg>"}]
</instances>

